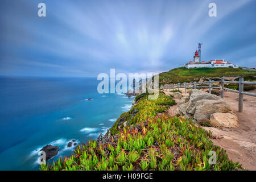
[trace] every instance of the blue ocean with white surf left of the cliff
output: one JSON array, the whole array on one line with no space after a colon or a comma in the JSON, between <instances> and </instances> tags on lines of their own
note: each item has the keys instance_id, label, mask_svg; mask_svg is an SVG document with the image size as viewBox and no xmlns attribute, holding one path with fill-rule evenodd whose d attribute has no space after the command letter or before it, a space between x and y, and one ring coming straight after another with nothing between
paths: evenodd
<instances>
[{"instance_id":1,"label":"blue ocean with white surf left of the cliff","mask_svg":"<svg viewBox=\"0 0 256 182\"><path fill-rule=\"evenodd\" d=\"M39 170L38 151L60 147L47 162L72 154L132 106L134 97L100 94L97 78L0 78L0 170ZM92 98L92 100L88 100Z\"/></svg>"}]
</instances>

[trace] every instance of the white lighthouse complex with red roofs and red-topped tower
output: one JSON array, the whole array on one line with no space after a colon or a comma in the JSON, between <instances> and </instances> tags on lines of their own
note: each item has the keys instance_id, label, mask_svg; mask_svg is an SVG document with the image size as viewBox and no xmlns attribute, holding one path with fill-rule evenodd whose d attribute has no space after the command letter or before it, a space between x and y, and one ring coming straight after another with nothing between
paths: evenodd
<instances>
[{"instance_id":1,"label":"white lighthouse complex with red roofs and red-topped tower","mask_svg":"<svg viewBox=\"0 0 256 182\"><path fill-rule=\"evenodd\" d=\"M194 61L189 61L184 65L186 68L239 68L238 65L228 63L224 60L210 60L208 62L199 61L200 56L198 51L195 52Z\"/></svg>"}]
</instances>

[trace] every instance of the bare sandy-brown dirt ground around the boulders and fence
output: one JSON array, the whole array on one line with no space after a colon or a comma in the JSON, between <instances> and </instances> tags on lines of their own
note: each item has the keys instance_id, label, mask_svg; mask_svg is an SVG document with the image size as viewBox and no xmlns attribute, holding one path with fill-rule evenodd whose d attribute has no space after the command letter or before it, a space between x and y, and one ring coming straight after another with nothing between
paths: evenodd
<instances>
[{"instance_id":1,"label":"bare sandy-brown dirt ground around the boulders and fence","mask_svg":"<svg viewBox=\"0 0 256 182\"><path fill-rule=\"evenodd\" d=\"M188 95L184 93L183 96ZM250 91L256 93L256 89ZM166 90L167 95L170 93ZM205 130L213 131L216 139L213 143L226 150L228 158L233 162L239 162L248 170L256 170L256 97L243 96L243 112L238 112L238 94L224 92L224 100L232 107L240 121L237 128L203 127ZM179 100L176 100L179 102ZM171 106L168 110L170 115L175 115L177 106Z\"/></svg>"}]
</instances>

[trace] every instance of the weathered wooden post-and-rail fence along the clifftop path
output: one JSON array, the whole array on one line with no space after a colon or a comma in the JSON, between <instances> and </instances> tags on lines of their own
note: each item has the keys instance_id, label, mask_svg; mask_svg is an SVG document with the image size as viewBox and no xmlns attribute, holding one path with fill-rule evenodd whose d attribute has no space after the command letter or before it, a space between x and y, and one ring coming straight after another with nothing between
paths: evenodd
<instances>
[{"instance_id":1,"label":"weathered wooden post-and-rail fence along the clifftop path","mask_svg":"<svg viewBox=\"0 0 256 182\"><path fill-rule=\"evenodd\" d=\"M221 86L212 86L212 83L217 83L219 82ZM238 84L239 85L239 90L233 90L233 89L229 89L229 88L225 88L225 83L228 84ZM208 86L196 86L198 84L208 84ZM243 81L243 77L239 78L239 81L226 81L224 77L221 78L220 81L212 81L209 79L209 81L204 81L204 82L192 82L192 83L187 83L184 82L183 84L175 84L175 85L166 85L166 86L160 86L160 88L162 89L169 89L169 91L171 91L171 89L175 90L175 88L177 88L178 90L180 90L180 88L185 88L185 93L187 93L187 89L191 89L191 88L208 88L209 89L209 93L211 93L211 89L220 89L221 90L221 98L224 98L224 90L228 90L230 92L235 92L239 94L239 99L238 99L238 111L241 113L243 111L243 95L247 95L247 96L253 96L256 97L255 93L250 93L250 92L244 92L243 91L243 85L245 84L249 84L249 85L256 85L256 81Z\"/></svg>"}]
</instances>

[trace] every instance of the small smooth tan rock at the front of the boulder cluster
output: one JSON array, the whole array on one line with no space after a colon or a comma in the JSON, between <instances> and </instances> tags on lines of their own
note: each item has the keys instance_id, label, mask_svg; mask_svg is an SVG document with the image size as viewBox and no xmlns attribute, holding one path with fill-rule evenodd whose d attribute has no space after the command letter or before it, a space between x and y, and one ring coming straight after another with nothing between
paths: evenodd
<instances>
[{"instance_id":1,"label":"small smooth tan rock at the front of the boulder cluster","mask_svg":"<svg viewBox=\"0 0 256 182\"><path fill-rule=\"evenodd\" d=\"M238 118L230 113L213 113L210 115L210 123L218 127L238 127Z\"/></svg>"}]
</instances>

